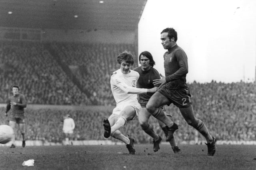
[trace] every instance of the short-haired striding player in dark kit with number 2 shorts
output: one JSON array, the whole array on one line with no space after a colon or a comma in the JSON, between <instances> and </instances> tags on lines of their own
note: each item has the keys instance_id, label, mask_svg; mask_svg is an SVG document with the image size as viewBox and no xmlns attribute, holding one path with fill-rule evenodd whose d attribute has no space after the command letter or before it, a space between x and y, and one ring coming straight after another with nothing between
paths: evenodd
<instances>
[{"instance_id":1,"label":"short-haired striding player in dark kit with number 2 shorts","mask_svg":"<svg viewBox=\"0 0 256 170\"><path fill-rule=\"evenodd\" d=\"M206 139L208 156L215 153L215 137L210 135L206 125L194 115L190 100L190 90L186 84L186 74L188 73L188 58L177 41L177 32L173 28L166 28L161 32L161 41L164 49L164 71L165 77L154 80L154 85L160 85L158 92L152 95L146 109L152 114L163 115L164 112L159 107L174 104L188 125L198 130ZM170 127L169 130L172 130Z\"/></svg>"}]
</instances>

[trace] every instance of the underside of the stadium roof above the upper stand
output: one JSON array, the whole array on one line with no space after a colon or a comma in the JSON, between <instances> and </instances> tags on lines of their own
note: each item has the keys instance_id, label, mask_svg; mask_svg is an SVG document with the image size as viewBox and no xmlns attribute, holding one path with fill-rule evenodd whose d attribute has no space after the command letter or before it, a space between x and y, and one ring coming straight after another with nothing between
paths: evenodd
<instances>
[{"instance_id":1,"label":"underside of the stadium roof above the upper stand","mask_svg":"<svg viewBox=\"0 0 256 170\"><path fill-rule=\"evenodd\" d=\"M0 0L0 26L135 30L146 2L147 0Z\"/></svg>"}]
</instances>

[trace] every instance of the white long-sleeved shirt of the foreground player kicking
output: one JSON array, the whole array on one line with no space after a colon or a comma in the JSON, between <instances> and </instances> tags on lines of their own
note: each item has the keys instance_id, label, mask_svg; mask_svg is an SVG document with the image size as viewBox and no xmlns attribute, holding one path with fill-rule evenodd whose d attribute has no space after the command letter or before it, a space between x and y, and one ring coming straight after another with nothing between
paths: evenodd
<instances>
[{"instance_id":1,"label":"white long-sleeved shirt of the foreground player kicking","mask_svg":"<svg viewBox=\"0 0 256 170\"><path fill-rule=\"evenodd\" d=\"M128 74L123 74L120 69L114 71L110 78L112 94L116 105L138 103L137 94L146 93L146 88L136 88L140 74L130 70Z\"/></svg>"}]
</instances>

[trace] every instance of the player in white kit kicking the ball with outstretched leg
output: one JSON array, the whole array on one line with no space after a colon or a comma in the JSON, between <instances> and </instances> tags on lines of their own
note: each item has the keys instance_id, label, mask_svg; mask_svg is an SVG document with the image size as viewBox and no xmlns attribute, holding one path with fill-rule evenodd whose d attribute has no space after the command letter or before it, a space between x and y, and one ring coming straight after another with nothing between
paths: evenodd
<instances>
[{"instance_id":1,"label":"player in white kit kicking the ball with outstretched leg","mask_svg":"<svg viewBox=\"0 0 256 170\"><path fill-rule=\"evenodd\" d=\"M103 120L104 137L110 136L124 142L130 154L135 154L133 147L134 139L124 136L118 129L123 127L126 122L132 120L141 109L137 100L137 94L154 93L157 88L136 88L139 73L131 70L134 64L132 54L124 51L117 57L120 69L114 71L110 78L112 94L116 101L116 107L112 115Z\"/></svg>"}]
</instances>

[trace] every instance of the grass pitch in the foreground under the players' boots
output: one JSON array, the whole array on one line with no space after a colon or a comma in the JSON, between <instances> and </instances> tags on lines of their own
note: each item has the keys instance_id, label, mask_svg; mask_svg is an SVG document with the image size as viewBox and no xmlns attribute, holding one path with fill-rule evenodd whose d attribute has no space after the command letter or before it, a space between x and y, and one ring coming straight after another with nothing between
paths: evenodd
<instances>
[{"instance_id":1,"label":"grass pitch in the foreground under the players' boots","mask_svg":"<svg viewBox=\"0 0 256 170\"><path fill-rule=\"evenodd\" d=\"M134 145L135 155L125 145L0 147L0 170L255 170L255 145L217 145L207 156L206 145L180 145L174 154L170 145ZM34 159L34 166L22 166Z\"/></svg>"}]
</instances>

